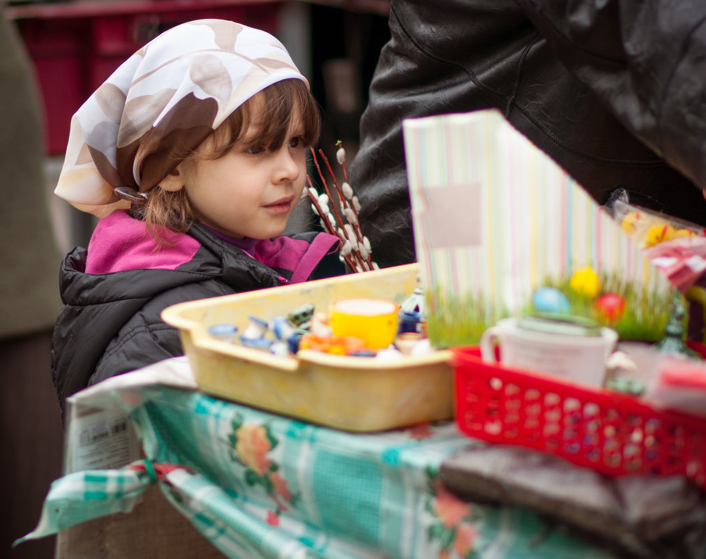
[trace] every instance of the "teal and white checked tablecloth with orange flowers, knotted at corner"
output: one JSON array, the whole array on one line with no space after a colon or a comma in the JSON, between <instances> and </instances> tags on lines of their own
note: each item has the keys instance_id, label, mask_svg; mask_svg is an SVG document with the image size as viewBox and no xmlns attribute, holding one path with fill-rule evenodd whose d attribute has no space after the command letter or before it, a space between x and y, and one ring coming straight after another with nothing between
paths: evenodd
<instances>
[{"instance_id":1,"label":"teal and white checked tablecloth with orange flowers, knotted at corner","mask_svg":"<svg viewBox=\"0 0 706 559\"><path fill-rule=\"evenodd\" d=\"M96 409L128 414L147 459L55 481L25 538L129 511L156 482L234 559L611 557L530 510L463 503L446 491L442 459L478 444L451 422L376 434L313 426L194 390L184 358L85 390L72 409L71 423ZM87 425L69 426L67 457L123 424Z\"/></svg>"}]
</instances>

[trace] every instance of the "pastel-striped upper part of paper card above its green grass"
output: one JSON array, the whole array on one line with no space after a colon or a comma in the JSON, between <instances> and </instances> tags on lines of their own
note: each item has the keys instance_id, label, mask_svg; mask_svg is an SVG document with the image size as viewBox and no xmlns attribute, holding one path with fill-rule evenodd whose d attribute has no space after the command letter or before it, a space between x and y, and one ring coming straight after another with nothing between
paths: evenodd
<instances>
[{"instance_id":1,"label":"pastel-striped upper part of paper card above its green grass","mask_svg":"<svg viewBox=\"0 0 706 559\"><path fill-rule=\"evenodd\" d=\"M407 119L403 131L439 347L477 342L498 318L524 312L537 287L586 266L671 300L669 282L619 224L501 112Z\"/></svg>"}]
</instances>

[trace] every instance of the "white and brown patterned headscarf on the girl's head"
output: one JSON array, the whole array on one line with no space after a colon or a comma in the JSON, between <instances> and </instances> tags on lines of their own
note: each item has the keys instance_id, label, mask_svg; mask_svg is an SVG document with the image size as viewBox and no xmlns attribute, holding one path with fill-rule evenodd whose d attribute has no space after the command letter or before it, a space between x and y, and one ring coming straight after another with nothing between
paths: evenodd
<instances>
[{"instance_id":1,"label":"white and brown patterned headscarf on the girl's head","mask_svg":"<svg viewBox=\"0 0 706 559\"><path fill-rule=\"evenodd\" d=\"M250 97L306 78L268 33L226 20L165 31L124 62L71 119L54 191L97 217L157 186ZM179 156L183 157L183 155Z\"/></svg>"}]
</instances>

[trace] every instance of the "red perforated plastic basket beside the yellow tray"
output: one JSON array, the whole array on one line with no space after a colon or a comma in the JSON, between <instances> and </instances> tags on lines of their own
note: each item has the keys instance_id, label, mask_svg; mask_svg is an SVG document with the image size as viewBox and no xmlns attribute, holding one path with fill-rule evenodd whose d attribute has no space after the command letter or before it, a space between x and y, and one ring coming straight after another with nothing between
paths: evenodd
<instances>
[{"instance_id":1,"label":"red perforated plastic basket beside the yellow tray","mask_svg":"<svg viewBox=\"0 0 706 559\"><path fill-rule=\"evenodd\" d=\"M462 433L548 452L601 474L685 475L706 487L706 419L631 395L483 361L453 349Z\"/></svg>"}]
</instances>

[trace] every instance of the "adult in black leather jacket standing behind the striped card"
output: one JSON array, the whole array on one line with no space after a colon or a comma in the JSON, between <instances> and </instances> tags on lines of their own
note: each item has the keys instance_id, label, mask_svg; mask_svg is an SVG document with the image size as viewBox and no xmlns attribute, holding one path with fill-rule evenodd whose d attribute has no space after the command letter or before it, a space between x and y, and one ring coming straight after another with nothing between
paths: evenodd
<instances>
[{"instance_id":1,"label":"adult in black leather jacket standing behind the striped card","mask_svg":"<svg viewBox=\"0 0 706 559\"><path fill-rule=\"evenodd\" d=\"M431 114L498 108L599 203L706 224L705 21L698 1L393 0L350 165L378 264L414 260L402 119Z\"/></svg>"}]
</instances>

